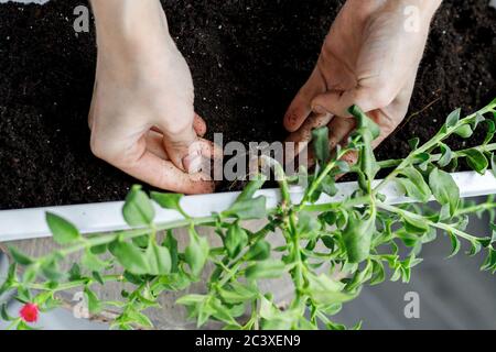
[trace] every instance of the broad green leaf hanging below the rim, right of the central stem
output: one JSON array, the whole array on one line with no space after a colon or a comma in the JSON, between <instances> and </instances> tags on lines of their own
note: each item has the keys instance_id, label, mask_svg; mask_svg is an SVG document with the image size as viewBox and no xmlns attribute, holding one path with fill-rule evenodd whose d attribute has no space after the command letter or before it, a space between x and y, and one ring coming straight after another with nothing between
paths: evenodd
<instances>
[{"instance_id":1,"label":"broad green leaf hanging below the rim, right of the central stem","mask_svg":"<svg viewBox=\"0 0 496 352\"><path fill-rule=\"evenodd\" d=\"M343 231L343 241L349 263L362 263L369 256L375 230L375 217L362 219L356 213L349 217L346 229Z\"/></svg>"}]
</instances>

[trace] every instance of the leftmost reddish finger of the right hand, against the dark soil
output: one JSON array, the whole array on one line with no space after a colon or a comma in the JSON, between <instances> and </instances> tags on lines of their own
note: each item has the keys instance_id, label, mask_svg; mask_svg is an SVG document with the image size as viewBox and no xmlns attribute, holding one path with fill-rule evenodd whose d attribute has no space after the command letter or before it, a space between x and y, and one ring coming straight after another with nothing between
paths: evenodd
<instances>
[{"instance_id":1,"label":"leftmost reddish finger of the right hand, against the dark soil","mask_svg":"<svg viewBox=\"0 0 496 352\"><path fill-rule=\"evenodd\" d=\"M312 112L312 99L315 96L325 92L325 90L326 84L319 72L319 67L315 67L309 80L296 94L285 112L284 128L289 132L294 132L300 129Z\"/></svg>"}]
</instances>

